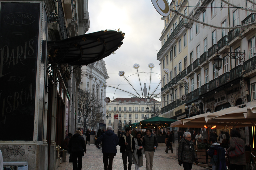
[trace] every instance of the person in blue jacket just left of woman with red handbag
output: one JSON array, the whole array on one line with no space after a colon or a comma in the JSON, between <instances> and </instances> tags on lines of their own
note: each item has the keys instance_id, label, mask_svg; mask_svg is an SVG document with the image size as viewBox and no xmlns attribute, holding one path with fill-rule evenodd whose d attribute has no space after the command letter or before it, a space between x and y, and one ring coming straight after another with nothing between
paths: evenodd
<instances>
[{"instance_id":1,"label":"person in blue jacket just left of woman with red handbag","mask_svg":"<svg viewBox=\"0 0 256 170\"><path fill-rule=\"evenodd\" d=\"M207 154L211 157L212 170L218 170L218 148L220 144L217 143L214 136L210 137L210 148L207 149Z\"/></svg>"}]
</instances>

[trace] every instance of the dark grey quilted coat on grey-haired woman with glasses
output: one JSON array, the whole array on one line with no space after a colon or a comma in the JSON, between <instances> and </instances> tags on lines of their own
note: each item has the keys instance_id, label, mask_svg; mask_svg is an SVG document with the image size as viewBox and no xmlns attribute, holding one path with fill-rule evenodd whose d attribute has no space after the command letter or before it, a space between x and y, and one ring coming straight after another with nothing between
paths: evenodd
<instances>
[{"instance_id":1,"label":"dark grey quilted coat on grey-haired woman with glasses","mask_svg":"<svg viewBox=\"0 0 256 170\"><path fill-rule=\"evenodd\" d=\"M184 143L184 148L182 150L182 145ZM193 163L197 159L197 155L194 149L194 143L190 140L186 142L184 138L179 141L178 147L178 161Z\"/></svg>"}]
</instances>

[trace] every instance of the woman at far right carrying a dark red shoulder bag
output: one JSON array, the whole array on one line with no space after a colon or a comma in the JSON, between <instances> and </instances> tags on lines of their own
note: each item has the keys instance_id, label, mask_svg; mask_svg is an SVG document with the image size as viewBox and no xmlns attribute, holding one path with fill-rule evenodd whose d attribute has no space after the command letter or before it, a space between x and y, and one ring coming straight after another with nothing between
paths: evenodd
<instances>
[{"instance_id":1,"label":"woman at far right carrying a dark red shoulder bag","mask_svg":"<svg viewBox=\"0 0 256 170\"><path fill-rule=\"evenodd\" d=\"M244 151L245 151L245 144L244 144L244 140L241 139L241 134L236 130L236 129L233 129L231 132L230 132L230 146L229 148L226 150L226 152L229 152L229 151L232 151L232 150L235 150L235 147L236 147L236 143L237 144L240 144ZM237 156L237 157L229 157L229 162L230 162L230 170L240 170L240 169L243 169L244 165L246 165L246 162L245 162L245 152L244 154L240 155L240 156Z\"/></svg>"}]
</instances>

